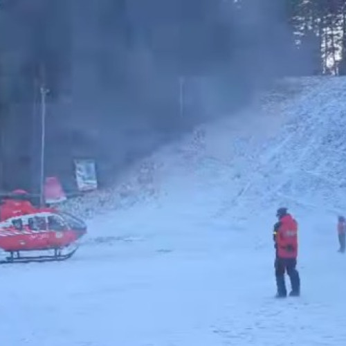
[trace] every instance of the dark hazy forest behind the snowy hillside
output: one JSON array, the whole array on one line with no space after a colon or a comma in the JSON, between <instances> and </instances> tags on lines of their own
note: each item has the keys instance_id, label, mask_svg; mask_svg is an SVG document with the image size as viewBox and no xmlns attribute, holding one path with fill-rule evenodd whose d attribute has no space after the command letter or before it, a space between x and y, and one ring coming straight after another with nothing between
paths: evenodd
<instances>
[{"instance_id":1,"label":"dark hazy forest behind the snowy hillside","mask_svg":"<svg viewBox=\"0 0 346 346\"><path fill-rule=\"evenodd\" d=\"M73 192L73 158L107 185L276 78L345 73L341 0L0 0L0 188L39 188L41 86L46 175Z\"/></svg>"}]
</instances>

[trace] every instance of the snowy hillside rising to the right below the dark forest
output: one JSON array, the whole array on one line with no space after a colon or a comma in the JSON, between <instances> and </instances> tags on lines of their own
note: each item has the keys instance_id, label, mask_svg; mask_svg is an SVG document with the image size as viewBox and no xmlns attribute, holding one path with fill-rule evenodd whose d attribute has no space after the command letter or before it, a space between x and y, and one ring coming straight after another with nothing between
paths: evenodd
<instances>
[{"instance_id":1,"label":"snowy hillside rising to the right below the dark forest","mask_svg":"<svg viewBox=\"0 0 346 346\"><path fill-rule=\"evenodd\" d=\"M156 152L115 188L66 208L92 217L149 196L174 193L186 201L186 189L200 200L208 184L215 215L246 217L253 208L260 211L258 199L261 209L274 203L343 210L345 86L344 78L286 80L241 114L203 125Z\"/></svg>"}]
</instances>

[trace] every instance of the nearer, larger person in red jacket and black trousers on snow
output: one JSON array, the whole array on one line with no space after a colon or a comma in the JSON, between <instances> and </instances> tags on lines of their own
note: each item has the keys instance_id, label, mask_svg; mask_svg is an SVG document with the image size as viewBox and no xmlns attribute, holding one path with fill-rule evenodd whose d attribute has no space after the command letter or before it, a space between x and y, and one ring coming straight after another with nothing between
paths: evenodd
<instances>
[{"instance_id":1,"label":"nearer, larger person in red jacket and black trousers on snow","mask_svg":"<svg viewBox=\"0 0 346 346\"><path fill-rule=\"evenodd\" d=\"M300 275L295 268L298 257L298 223L287 212L287 208L279 208L276 213L279 221L274 225L275 242L275 279L277 298L286 298L285 272L291 280L290 296L300 295Z\"/></svg>"}]
</instances>

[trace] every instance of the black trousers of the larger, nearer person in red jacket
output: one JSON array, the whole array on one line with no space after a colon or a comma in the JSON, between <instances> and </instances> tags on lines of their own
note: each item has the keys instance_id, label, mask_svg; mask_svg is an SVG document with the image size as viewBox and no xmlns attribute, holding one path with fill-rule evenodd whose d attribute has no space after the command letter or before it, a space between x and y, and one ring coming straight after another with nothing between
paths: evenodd
<instances>
[{"instance_id":1,"label":"black trousers of the larger, nearer person in red jacket","mask_svg":"<svg viewBox=\"0 0 346 346\"><path fill-rule=\"evenodd\" d=\"M278 295L287 295L286 283L284 280L284 274L287 273L291 280L292 293L295 295L300 294L300 276L295 269L297 260L295 258L280 258L277 257L275 260L275 279L277 285Z\"/></svg>"}]
</instances>

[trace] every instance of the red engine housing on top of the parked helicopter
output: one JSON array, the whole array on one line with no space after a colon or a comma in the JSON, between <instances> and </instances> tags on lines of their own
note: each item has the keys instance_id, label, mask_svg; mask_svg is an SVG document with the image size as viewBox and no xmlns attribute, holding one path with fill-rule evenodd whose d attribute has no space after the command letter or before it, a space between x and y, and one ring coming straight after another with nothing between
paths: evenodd
<instances>
[{"instance_id":1,"label":"red engine housing on top of the parked helicopter","mask_svg":"<svg viewBox=\"0 0 346 346\"><path fill-rule=\"evenodd\" d=\"M25 190L14 190L12 196L5 199L0 208L0 220L5 221L10 217L31 214L37 209L28 201L28 192Z\"/></svg>"}]
</instances>

